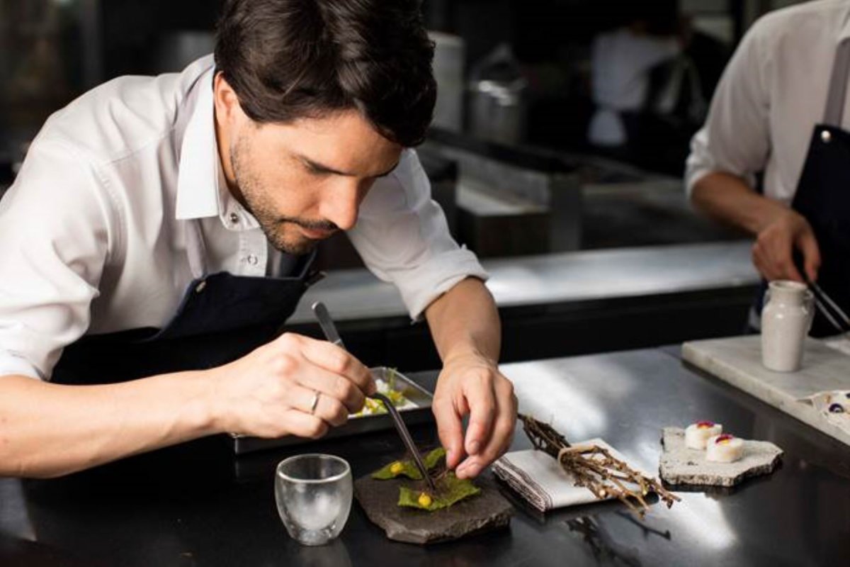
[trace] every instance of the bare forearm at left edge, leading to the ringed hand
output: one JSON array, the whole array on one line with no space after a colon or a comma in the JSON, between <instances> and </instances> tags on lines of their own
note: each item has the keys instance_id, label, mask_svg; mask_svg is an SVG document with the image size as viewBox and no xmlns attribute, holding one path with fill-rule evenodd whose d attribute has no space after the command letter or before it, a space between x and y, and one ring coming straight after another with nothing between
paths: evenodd
<instances>
[{"instance_id":1,"label":"bare forearm at left edge, leading to the ringed hand","mask_svg":"<svg viewBox=\"0 0 850 567\"><path fill-rule=\"evenodd\" d=\"M0 377L0 476L59 476L212 434L206 378L65 386Z\"/></svg>"}]
</instances>

